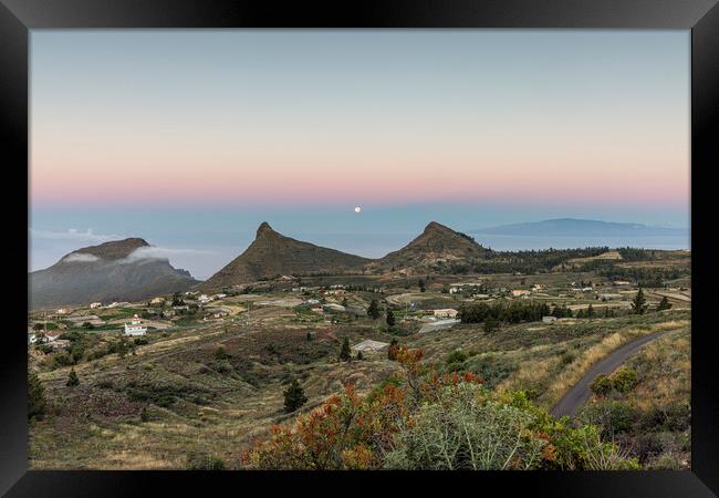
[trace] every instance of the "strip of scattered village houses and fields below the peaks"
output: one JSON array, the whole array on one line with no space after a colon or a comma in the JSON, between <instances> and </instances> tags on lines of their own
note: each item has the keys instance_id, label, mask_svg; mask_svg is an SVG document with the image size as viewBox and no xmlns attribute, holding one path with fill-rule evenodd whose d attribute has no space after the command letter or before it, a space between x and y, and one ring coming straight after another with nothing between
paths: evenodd
<instances>
[{"instance_id":1,"label":"strip of scattered village houses and fields below the peaks","mask_svg":"<svg viewBox=\"0 0 719 498\"><path fill-rule=\"evenodd\" d=\"M366 318L371 298L375 295L384 307L396 309L403 322L416 323L418 332L424 333L459 323L457 314L460 307L467 303L517 300L544 302L553 308L565 307L573 312L590 307L597 313L605 309L626 312L638 292L637 286L626 280L552 282L552 279L544 278L542 280L545 282L539 283L521 273L472 281L446 280L437 277L429 289L424 288L426 283L421 281L417 283L421 287L418 292L407 292L406 282L402 282L405 283L404 288L400 282L393 286L393 282L383 281L373 282L371 287L367 283L310 286L300 284L302 279L280 276L271 282L233 286L215 294L186 291L155 297L146 302L92 302L86 307L38 310L29 314L28 344L48 344L61 350L69 345L69 341L61 338L67 330L140 336L148 331L173 331L190 323L248 323L251 310L258 310L260 315L271 315L273 309L293 310L304 321L332 324L338 323L342 318ZM502 286L506 287L490 288L490 280L503 281ZM663 298L678 307L688 307L691 301L688 287L665 286L647 290L647 294L650 301L654 300L654 305ZM556 320L562 318L542 318L544 323ZM367 347L378 350L388 345L365 341L353 345L353 351L366 351Z\"/></svg>"}]
</instances>

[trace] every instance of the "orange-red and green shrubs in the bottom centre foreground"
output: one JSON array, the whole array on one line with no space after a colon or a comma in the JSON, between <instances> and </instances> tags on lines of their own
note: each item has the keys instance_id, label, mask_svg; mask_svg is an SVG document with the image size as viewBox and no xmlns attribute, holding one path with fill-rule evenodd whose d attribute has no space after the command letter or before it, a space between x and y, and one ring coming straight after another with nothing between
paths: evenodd
<instances>
[{"instance_id":1,"label":"orange-red and green shrubs in the bottom centre foreground","mask_svg":"<svg viewBox=\"0 0 719 498\"><path fill-rule=\"evenodd\" d=\"M496 393L469 372L438 375L421 350L367 396L347 385L243 455L262 469L638 469L595 425L554 419L522 392Z\"/></svg>"}]
</instances>

